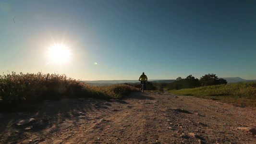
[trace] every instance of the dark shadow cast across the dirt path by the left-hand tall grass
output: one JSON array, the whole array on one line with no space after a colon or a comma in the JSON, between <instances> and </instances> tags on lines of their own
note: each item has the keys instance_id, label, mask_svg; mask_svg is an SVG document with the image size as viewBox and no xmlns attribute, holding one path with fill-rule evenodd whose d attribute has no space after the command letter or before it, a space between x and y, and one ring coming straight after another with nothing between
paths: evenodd
<instances>
[{"instance_id":1,"label":"dark shadow cast across the dirt path by the left-hand tall grass","mask_svg":"<svg viewBox=\"0 0 256 144\"><path fill-rule=\"evenodd\" d=\"M26 112L4 113L0 117L0 144L10 142L21 143L26 133L42 135L45 130L50 133L59 132L60 126L67 129L77 125L81 120L99 119L88 113L110 113L111 103L106 100L94 98L61 99L59 101L46 100L38 104L38 109ZM35 119L24 125L17 125L21 120ZM72 123L70 122L72 121Z\"/></svg>"}]
</instances>

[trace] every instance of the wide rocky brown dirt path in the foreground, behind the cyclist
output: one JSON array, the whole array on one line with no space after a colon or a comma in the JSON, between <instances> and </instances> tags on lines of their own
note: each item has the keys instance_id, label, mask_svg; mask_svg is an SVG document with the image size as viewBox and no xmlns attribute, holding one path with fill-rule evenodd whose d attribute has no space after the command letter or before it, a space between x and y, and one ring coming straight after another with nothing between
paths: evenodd
<instances>
[{"instance_id":1,"label":"wide rocky brown dirt path in the foreground, behind the cyclist","mask_svg":"<svg viewBox=\"0 0 256 144\"><path fill-rule=\"evenodd\" d=\"M45 101L38 107L36 112L0 114L0 144L256 142L255 108L192 96L146 92L123 100Z\"/></svg>"}]
</instances>

